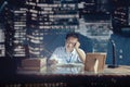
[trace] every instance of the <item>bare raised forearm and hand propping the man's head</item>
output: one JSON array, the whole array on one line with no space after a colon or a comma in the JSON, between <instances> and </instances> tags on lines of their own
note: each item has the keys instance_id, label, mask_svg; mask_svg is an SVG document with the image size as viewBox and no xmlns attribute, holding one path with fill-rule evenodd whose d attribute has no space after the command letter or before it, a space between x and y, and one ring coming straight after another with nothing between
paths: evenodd
<instances>
[{"instance_id":1,"label":"bare raised forearm and hand propping the man's head","mask_svg":"<svg viewBox=\"0 0 130 87\"><path fill-rule=\"evenodd\" d=\"M77 42L76 42L76 46L75 46L75 49L76 49L76 51L77 51L80 60L82 61L82 63L84 63L84 61L86 61L86 53L84 53L83 50L81 50L81 49L79 48L79 46L80 46L80 42L77 41Z\"/></svg>"}]
</instances>

